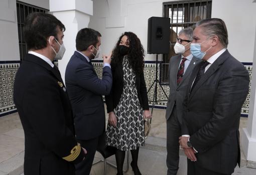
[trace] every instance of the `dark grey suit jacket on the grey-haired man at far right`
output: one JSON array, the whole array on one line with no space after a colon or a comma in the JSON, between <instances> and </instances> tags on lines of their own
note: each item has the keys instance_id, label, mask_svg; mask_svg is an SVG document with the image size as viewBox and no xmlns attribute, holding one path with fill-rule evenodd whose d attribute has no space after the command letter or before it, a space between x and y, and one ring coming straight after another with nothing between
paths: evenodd
<instances>
[{"instance_id":1,"label":"dark grey suit jacket on the grey-haired man at far right","mask_svg":"<svg viewBox=\"0 0 256 175\"><path fill-rule=\"evenodd\" d=\"M190 93L201 64L191 75L184 101L190 142L201 167L231 174L240 162L239 120L248 93L249 74L226 50L209 67ZM185 130L185 129L184 129Z\"/></svg>"}]
</instances>

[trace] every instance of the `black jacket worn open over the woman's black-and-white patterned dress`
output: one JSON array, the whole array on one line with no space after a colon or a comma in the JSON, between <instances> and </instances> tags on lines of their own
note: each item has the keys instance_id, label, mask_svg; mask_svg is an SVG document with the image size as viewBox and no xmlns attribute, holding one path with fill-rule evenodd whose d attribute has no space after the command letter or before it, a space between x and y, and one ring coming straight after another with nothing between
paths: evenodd
<instances>
[{"instance_id":1,"label":"black jacket worn open over the woman's black-and-white patterned dress","mask_svg":"<svg viewBox=\"0 0 256 175\"><path fill-rule=\"evenodd\" d=\"M114 58L113 58L114 59ZM109 95L105 96L107 112L111 112L118 105L123 91L123 70L122 63L111 63L113 85ZM140 104L144 110L149 109L149 100L144 73L136 74L136 87Z\"/></svg>"}]
</instances>

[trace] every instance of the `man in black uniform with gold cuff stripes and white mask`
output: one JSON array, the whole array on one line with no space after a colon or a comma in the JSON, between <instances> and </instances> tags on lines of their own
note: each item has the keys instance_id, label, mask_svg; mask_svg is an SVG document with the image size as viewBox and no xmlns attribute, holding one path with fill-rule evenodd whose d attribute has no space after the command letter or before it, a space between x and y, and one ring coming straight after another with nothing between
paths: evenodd
<instances>
[{"instance_id":1,"label":"man in black uniform with gold cuff stripes and white mask","mask_svg":"<svg viewBox=\"0 0 256 175\"><path fill-rule=\"evenodd\" d=\"M18 70L14 101L25 132L26 175L75 174L86 150L75 138L72 107L53 59L61 59L64 25L50 14L33 13L25 22L29 53Z\"/></svg>"}]
</instances>

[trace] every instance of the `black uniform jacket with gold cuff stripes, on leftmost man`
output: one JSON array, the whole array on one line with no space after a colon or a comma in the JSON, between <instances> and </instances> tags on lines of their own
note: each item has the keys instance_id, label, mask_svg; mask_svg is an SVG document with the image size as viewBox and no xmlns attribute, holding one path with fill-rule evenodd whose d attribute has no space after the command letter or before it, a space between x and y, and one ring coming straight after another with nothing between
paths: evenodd
<instances>
[{"instance_id":1,"label":"black uniform jacket with gold cuff stripes, on leftmost man","mask_svg":"<svg viewBox=\"0 0 256 175\"><path fill-rule=\"evenodd\" d=\"M36 174L74 174L74 165L61 157L77 145L72 108L68 95L59 85L60 74L32 54L18 70L14 101L25 132L24 172ZM82 160L84 153L75 160Z\"/></svg>"}]
</instances>

